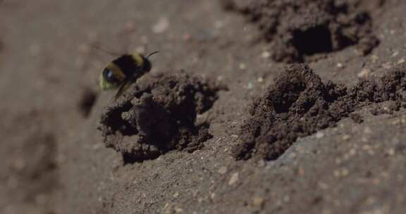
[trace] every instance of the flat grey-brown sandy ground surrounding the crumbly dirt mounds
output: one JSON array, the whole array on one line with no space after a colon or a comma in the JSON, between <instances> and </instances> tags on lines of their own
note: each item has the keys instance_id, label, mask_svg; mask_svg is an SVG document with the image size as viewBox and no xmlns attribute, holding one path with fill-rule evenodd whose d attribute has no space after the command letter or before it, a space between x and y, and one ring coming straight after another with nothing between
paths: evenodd
<instances>
[{"instance_id":1,"label":"flat grey-brown sandy ground surrounding the crumbly dirt mounds","mask_svg":"<svg viewBox=\"0 0 406 214\"><path fill-rule=\"evenodd\" d=\"M238 158L235 148L245 142L254 99L278 88L288 63L305 62L323 82L347 87L394 69L405 73L406 2L369 8L364 30L354 34L357 25L343 21L349 32L338 35L379 40L366 55L358 43L297 57L314 50L290 51L264 34L266 19L250 21L252 11L262 18L274 11L241 8L190 0L1 1L0 213L405 213L404 99L393 109L392 101L369 101L356 116L296 134L276 158L257 152L269 151L269 132L254 140L250 156ZM292 18L281 14L281 22ZM295 36L293 25L281 26L276 37ZM147 75L183 70L225 86L196 115L211 137L197 149L168 147L124 164L98 129L106 106L116 104L114 92L99 92L96 82L115 56L94 46L160 51ZM394 87L401 96L404 83Z\"/></svg>"}]
</instances>

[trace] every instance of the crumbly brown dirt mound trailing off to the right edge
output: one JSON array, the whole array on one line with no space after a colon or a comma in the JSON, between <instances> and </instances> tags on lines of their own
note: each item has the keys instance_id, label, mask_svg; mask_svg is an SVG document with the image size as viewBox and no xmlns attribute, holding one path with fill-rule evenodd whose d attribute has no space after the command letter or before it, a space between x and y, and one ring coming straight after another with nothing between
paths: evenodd
<instances>
[{"instance_id":1,"label":"crumbly brown dirt mound trailing off to the right edge","mask_svg":"<svg viewBox=\"0 0 406 214\"><path fill-rule=\"evenodd\" d=\"M273 160L298 137L336 126L363 106L383 101L400 106L406 99L405 75L406 66L401 65L380 80L359 80L347 89L343 84L321 82L307 65L291 65L264 96L252 103L233 155L238 159L257 156Z\"/></svg>"}]
</instances>

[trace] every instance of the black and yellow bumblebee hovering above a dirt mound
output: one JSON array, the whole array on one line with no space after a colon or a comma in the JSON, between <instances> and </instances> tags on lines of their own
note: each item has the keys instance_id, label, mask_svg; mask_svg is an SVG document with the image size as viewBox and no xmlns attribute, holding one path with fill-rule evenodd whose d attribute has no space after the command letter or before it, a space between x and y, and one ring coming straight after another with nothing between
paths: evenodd
<instances>
[{"instance_id":1,"label":"black and yellow bumblebee hovering above a dirt mound","mask_svg":"<svg viewBox=\"0 0 406 214\"><path fill-rule=\"evenodd\" d=\"M140 53L124 54L114 59L106 65L99 77L100 89L118 89L114 96L114 99L117 99L131 84L151 70L152 65L148 58L155 53L158 51L149 53L147 56Z\"/></svg>"}]
</instances>

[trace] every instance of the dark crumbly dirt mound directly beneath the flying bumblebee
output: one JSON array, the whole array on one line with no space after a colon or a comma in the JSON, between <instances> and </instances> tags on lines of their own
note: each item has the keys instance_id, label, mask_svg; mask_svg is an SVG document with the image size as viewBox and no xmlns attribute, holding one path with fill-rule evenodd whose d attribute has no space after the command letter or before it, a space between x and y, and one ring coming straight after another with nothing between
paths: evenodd
<instances>
[{"instance_id":1,"label":"dark crumbly dirt mound directly beneath the flying bumblebee","mask_svg":"<svg viewBox=\"0 0 406 214\"><path fill-rule=\"evenodd\" d=\"M211 138L197 115L209 110L219 87L189 75L146 76L101 116L104 143L125 163L177 149L195 151Z\"/></svg>"}]
</instances>

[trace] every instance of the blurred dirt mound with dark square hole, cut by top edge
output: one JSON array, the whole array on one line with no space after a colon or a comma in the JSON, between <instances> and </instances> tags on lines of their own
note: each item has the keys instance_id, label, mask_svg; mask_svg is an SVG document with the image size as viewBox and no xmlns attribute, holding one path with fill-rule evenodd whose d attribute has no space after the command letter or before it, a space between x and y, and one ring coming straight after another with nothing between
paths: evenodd
<instances>
[{"instance_id":1,"label":"blurred dirt mound with dark square hole, cut by top edge","mask_svg":"<svg viewBox=\"0 0 406 214\"><path fill-rule=\"evenodd\" d=\"M273 60L290 63L312 61L352 45L369 53L379 44L371 13L383 4L383 0L227 0L224 6L257 23L270 42Z\"/></svg>"}]
</instances>

